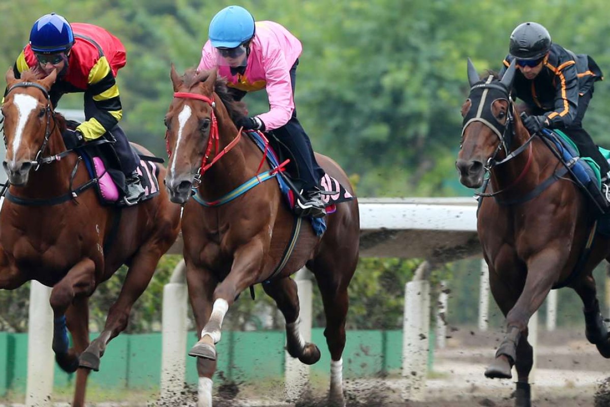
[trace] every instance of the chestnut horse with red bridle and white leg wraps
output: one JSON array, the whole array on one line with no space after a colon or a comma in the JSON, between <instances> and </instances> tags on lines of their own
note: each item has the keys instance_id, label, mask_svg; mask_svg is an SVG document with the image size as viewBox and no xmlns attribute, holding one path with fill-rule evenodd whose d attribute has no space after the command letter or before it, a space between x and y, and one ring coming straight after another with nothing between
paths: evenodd
<instances>
[{"instance_id":1,"label":"chestnut horse with red bridle and white leg wraps","mask_svg":"<svg viewBox=\"0 0 610 407\"><path fill-rule=\"evenodd\" d=\"M347 288L358 261L360 234L356 199L337 204L337 211L326 215L323 237L304 225L285 266L270 278L296 222L282 202L277 182L262 182L220 206L189 200L193 186L198 187L200 198L211 202L269 169L266 163L261 167L260 149L235 127L234 119L244 114L242 106L232 100L224 81L217 81L216 71L187 71L179 76L172 66L171 81L176 93L165 116L170 153L165 182L171 200L184 204L188 295L200 333L190 351L198 356L199 406L212 405L215 344L221 337L224 315L235 298L253 284L264 283L265 292L284 314L290 355L306 364L320 359L318 347L305 342L298 331L299 303L290 275L304 265L315 275L325 308L325 336L331 354L329 403L345 405L342 352ZM317 159L353 194L336 162L320 154Z\"/></svg>"}]
</instances>

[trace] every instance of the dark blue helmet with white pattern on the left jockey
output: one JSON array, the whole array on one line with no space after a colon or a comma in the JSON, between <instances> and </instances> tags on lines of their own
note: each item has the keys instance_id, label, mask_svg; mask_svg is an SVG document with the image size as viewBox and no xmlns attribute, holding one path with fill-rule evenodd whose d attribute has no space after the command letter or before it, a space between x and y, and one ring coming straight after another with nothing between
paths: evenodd
<instances>
[{"instance_id":1,"label":"dark blue helmet with white pattern on the left jockey","mask_svg":"<svg viewBox=\"0 0 610 407\"><path fill-rule=\"evenodd\" d=\"M38 18L30 31L32 51L41 54L68 51L74 44L74 33L70 23L56 13Z\"/></svg>"}]
</instances>

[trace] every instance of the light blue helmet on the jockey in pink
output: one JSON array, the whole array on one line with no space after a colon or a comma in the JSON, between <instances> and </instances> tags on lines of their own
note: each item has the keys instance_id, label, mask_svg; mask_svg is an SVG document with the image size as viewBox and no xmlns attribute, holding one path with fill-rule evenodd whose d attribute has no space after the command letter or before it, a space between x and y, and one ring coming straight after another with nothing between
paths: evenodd
<instances>
[{"instance_id":1,"label":"light blue helmet on the jockey in pink","mask_svg":"<svg viewBox=\"0 0 610 407\"><path fill-rule=\"evenodd\" d=\"M235 48L254 36L254 18L239 5L220 10L210 23L208 37L215 48Z\"/></svg>"}]
</instances>

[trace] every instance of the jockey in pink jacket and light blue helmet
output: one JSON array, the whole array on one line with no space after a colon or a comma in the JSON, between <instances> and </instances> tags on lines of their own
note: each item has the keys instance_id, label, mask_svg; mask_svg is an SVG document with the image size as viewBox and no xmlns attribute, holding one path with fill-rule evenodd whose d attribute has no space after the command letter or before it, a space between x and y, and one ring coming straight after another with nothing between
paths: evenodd
<instances>
[{"instance_id":1,"label":"jockey in pink jacket and light blue helmet","mask_svg":"<svg viewBox=\"0 0 610 407\"><path fill-rule=\"evenodd\" d=\"M235 124L246 130L273 130L292 153L298 171L295 178L303 184L304 202L296 202L296 213L323 217L326 211L319 183L324 171L315 160L294 105L296 66L302 49L301 42L280 24L255 23L248 10L231 5L212 18L198 70L218 67L236 100L248 92L267 91L269 112L241 118Z\"/></svg>"}]
</instances>

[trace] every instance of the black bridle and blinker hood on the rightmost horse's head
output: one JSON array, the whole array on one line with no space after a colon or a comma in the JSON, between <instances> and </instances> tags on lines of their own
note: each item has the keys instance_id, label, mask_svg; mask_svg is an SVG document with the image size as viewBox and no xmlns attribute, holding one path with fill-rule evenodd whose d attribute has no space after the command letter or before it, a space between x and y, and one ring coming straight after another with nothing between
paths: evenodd
<instances>
[{"instance_id":1,"label":"black bridle and blinker hood on the rightmost horse's head","mask_svg":"<svg viewBox=\"0 0 610 407\"><path fill-rule=\"evenodd\" d=\"M479 121L483 123L485 126L490 128L493 131L493 134L498 136L498 145L493 151L493 154L487 159L486 164L484 165L484 169L486 172L492 170L492 168L497 167L498 165L504 164L509 160L514 159L514 157L521 154L525 151L526 148L529 148L528 160L525 164L525 167L521 171L520 175L511 182L507 187L492 193L476 193L479 196L493 196L498 193L504 192L519 181L521 181L531 166L531 162L533 160L532 154L532 145L531 141L534 139L535 135L530 135L529 139L526 140L525 143L519 146L519 148L515 149L511 153L509 153L512 141L515 138L515 126L514 126L514 103L512 101L510 92L508 88L498 81L493 81L493 76L489 76L486 81L479 82L473 85L470 88L470 101L472 105L470 109L466 113L464 117L464 121L462 123L462 143L464 142L464 133L468 126L468 124L473 123L474 121ZM491 98L491 101L488 103L487 100ZM506 110L506 123L500 123L500 121L495 118L492 113L492 104L494 101L498 99L504 99L508 102L508 109ZM460 144L460 148L462 148L462 143ZM496 160L496 156L500 151L506 151L506 157L501 160Z\"/></svg>"}]
</instances>

